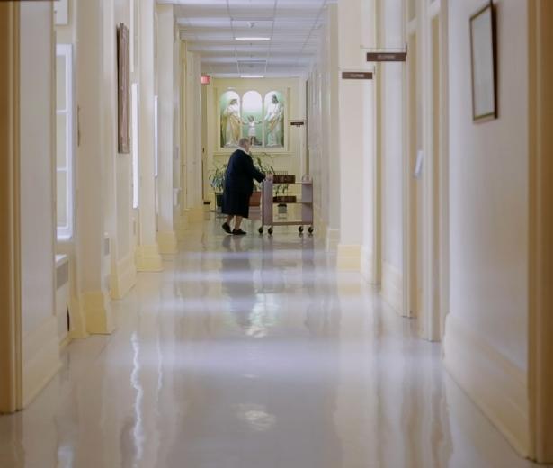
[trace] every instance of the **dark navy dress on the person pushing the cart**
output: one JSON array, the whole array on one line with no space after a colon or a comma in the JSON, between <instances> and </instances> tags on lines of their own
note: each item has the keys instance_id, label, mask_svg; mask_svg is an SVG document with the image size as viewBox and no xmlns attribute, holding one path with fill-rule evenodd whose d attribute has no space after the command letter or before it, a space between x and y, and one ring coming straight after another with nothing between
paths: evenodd
<instances>
[{"instance_id":1,"label":"dark navy dress on the person pushing the cart","mask_svg":"<svg viewBox=\"0 0 553 468\"><path fill-rule=\"evenodd\" d=\"M254 179L263 181L265 175L254 166L252 157L243 149L236 149L228 160L223 191L223 213L247 218L250 196L254 192Z\"/></svg>"}]
</instances>

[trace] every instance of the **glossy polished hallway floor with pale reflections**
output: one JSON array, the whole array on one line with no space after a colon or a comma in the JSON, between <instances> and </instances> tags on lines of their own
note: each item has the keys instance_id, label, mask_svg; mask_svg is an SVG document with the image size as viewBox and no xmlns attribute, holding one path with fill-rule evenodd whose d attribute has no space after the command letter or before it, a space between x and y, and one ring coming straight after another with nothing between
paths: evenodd
<instances>
[{"instance_id":1,"label":"glossy polished hallway floor with pale reflections","mask_svg":"<svg viewBox=\"0 0 553 468\"><path fill-rule=\"evenodd\" d=\"M31 407L0 418L0 466L533 466L444 374L440 346L317 237L219 224L192 224L165 273L114 304L117 331L71 344Z\"/></svg>"}]
</instances>

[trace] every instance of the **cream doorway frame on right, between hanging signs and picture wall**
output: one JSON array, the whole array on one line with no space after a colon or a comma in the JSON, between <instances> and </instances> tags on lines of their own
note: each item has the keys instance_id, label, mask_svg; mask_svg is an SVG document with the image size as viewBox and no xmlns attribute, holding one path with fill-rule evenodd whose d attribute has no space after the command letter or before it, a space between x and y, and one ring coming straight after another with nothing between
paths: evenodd
<instances>
[{"instance_id":1,"label":"cream doorway frame on right, between hanging signs and picture wall","mask_svg":"<svg viewBox=\"0 0 553 468\"><path fill-rule=\"evenodd\" d=\"M406 38L408 43L415 36L416 47L409 48L409 57L415 57L415 76L417 86L415 94L420 94L421 115L417 115L417 105L413 102L411 70L406 67L405 114L406 147L404 157L404 313L409 318L416 318L420 323L422 338L429 341L441 341L444 333L445 317L449 311L450 264L449 264L449 87L448 87L448 0L415 0L416 13L406 11ZM439 22L439 51L434 54L433 23ZM441 115L439 129L434 129L433 108L435 94L434 84L426 76L433 76L434 61L438 57L439 83L438 93ZM415 106L415 109L414 109ZM413 119L420 118L420 122ZM417 127L419 125L420 127ZM419 182L423 186L421 212L417 213L422 222L423 236L422 272L416 281L422 288L420 311L413 313L416 301L413 293L413 255L418 246L412 236L414 215L410 210L411 195L415 187L413 179L413 132L420 130L419 149L424 151L424 175ZM439 144L434 148L435 131L438 131Z\"/></svg>"}]
</instances>

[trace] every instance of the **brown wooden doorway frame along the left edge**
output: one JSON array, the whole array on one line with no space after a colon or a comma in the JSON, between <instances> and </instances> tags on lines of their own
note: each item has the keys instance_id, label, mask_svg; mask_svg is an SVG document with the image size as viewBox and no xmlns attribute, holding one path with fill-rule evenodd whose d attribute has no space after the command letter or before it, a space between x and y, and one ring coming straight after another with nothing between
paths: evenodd
<instances>
[{"instance_id":1,"label":"brown wooden doorway frame along the left edge","mask_svg":"<svg viewBox=\"0 0 553 468\"><path fill-rule=\"evenodd\" d=\"M20 8L0 3L0 413L22 409L20 224Z\"/></svg>"}]
</instances>

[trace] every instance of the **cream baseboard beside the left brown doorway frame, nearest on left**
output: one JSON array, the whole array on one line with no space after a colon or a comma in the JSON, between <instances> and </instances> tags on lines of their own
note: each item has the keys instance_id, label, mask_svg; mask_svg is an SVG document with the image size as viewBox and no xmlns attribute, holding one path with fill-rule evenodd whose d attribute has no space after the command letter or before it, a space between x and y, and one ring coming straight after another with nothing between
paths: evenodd
<instances>
[{"instance_id":1,"label":"cream baseboard beside the left brown doorway frame, nearest on left","mask_svg":"<svg viewBox=\"0 0 553 468\"><path fill-rule=\"evenodd\" d=\"M61 368L56 316L23 338L23 408L29 406Z\"/></svg>"}]
</instances>

